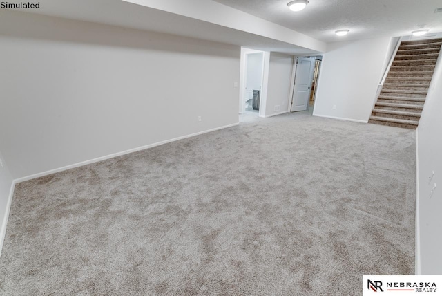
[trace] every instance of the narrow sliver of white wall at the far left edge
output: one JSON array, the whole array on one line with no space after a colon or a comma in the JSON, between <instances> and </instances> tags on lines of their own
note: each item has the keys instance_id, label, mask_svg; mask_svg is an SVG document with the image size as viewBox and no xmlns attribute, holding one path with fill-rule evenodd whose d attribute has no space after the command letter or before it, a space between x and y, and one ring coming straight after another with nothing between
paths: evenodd
<instances>
[{"instance_id":1,"label":"narrow sliver of white wall at the far left edge","mask_svg":"<svg viewBox=\"0 0 442 296\"><path fill-rule=\"evenodd\" d=\"M0 255L3 246L3 239L6 234L6 223L10 208L10 197L12 196L12 176L9 172L6 161L0 152Z\"/></svg>"}]
</instances>

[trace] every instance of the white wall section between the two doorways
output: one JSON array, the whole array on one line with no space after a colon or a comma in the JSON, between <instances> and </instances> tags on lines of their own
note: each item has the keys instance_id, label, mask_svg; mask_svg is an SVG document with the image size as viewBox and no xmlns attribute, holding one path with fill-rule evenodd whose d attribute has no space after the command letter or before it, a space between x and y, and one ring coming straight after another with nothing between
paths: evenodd
<instances>
[{"instance_id":1,"label":"white wall section between the two doorways","mask_svg":"<svg viewBox=\"0 0 442 296\"><path fill-rule=\"evenodd\" d=\"M289 108L292 67L293 56L270 53L267 93L265 93L265 117L287 112Z\"/></svg>"}]
</instances>

